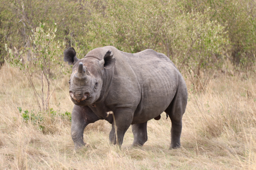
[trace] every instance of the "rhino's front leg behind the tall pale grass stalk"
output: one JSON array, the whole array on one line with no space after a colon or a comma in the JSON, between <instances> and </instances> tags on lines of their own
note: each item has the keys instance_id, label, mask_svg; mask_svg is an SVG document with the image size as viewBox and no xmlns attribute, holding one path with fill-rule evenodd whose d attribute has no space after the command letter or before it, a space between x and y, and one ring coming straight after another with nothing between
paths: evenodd
<instances>
[{"instance_id":1,"label":"rhino's front leg behind the tall pale grass stalk","mask_svg":"<svg viewBox=\"0 0 256 170\"><path fill-rule=\"evenodd\" d=\"M121 146L124 139L124 134L126 133L127 129L130 127L132 123L134 111L128 108L120 108L117 109L114 113L114 119L112 121L112 129L109 134L110 143L114 145ZM115 123L116 122L116 131L115 131ZM116 134L117 133L117 134ZM117 135L117 140L116 140Z\"/></svg>"}]
</instances>

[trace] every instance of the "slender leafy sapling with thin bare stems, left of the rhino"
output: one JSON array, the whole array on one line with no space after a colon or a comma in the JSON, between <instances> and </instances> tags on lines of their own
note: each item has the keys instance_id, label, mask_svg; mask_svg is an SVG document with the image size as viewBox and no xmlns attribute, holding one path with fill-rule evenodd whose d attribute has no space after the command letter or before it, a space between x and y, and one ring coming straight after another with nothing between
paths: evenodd
<instances>
[{"instance_id":1,"label":"slender leafy sapling with thin bare stems, left of the rhino","mask_svg":"<svg viewBox=\"0 0 256 170\"><path fill-rule=\"evenodd\" d=\"M50 93L50 84L53 79L58 80L58 73L62 71L63 63L60 61L59 57L62 54L59 41L54 41L57 31L56 23L52 25L52 29L49 28L46 31L44 30L44 26L45 24L40 23L40 26L32 31L33 35L30 36L30 40L34 45L33 48L23 48L20 49L19 52L13 52L6 44L6 51L8 51L10 55L6 61L11 66L18 67L24 72L34 90L34 96L40 111L47 111L49 109L49 100L55 90L57 81L55 82L52 93ZM24 58L25 55L29 55L30 57L26 59ZM54 70L55 77L52 75L52 70ZM35 71L41 72L41 93L36 90L34 80L31 76L32 72ZM46 84L46 88L44 84Z\"/></svg>"}]
</instances>

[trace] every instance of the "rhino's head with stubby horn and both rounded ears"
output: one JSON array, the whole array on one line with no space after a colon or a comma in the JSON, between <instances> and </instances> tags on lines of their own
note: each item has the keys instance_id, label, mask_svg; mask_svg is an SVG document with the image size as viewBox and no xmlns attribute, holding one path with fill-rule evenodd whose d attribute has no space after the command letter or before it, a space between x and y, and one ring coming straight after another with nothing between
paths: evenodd
<instances>
[{"instance_id":1,"label":"rhino's head with stubby horn and both rounded ears","mask_svg":"<svg viewBox=\"0 0 256 170\"><path fill-rule=\"evenodd\" d=\"M105 80L104 68L112 68L116 61L112 57L111 50L106 52L102 60L94 57L78 59L73 47L64 51L64 61L74 65L69 80L69 94L74 104L88 106L100 98Z\"/></svg>"}]
</instances>

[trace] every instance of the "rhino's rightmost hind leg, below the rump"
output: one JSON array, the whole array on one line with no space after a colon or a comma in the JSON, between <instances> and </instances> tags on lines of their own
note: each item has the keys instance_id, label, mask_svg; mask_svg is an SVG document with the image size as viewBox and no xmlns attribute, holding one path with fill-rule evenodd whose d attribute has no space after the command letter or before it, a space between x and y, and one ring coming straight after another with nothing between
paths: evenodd
<instances>
[{"instance_id":1,"label":"rhino's rightmost hind leg, below the rump","mask_svg":"<svg viewBox=\"0 0 256 170\"><path fill-rule=\"evenodd\" d=\"M165 112L172 121L170 149L180 147L180 135L182 131L182 116L185 112L188 94L185 82L180 82L176 94Z\"/></svg>"}]
</instances>

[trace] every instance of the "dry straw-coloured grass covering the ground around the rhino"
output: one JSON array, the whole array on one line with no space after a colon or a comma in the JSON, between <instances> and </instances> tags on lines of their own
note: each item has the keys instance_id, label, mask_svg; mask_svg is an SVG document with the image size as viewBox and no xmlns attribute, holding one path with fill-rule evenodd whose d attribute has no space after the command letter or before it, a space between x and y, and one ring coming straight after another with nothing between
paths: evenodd
<instances>
[{"instance_id":1,"label":"dry straw-coloured grass covering the ground around the rhino","mask_svg":"<svg viewBox=\"0 0 256 170\"><path fill-rule=\"evenodd\" d=\"M44 131L26 123L17 107L38 112L30 84L16 68L0 70L0 169L256 169L256 79L218 74L205 92L189 89L180 149L169 150L170 119L148 122L148 141L131 148L131 128L119 149L110 145L110 124L98 121L84 131L89 147L74 151L67 96L69 75L63 75L45 115ZM35 76L36 80L36 76Z\"/></svg>"}]
</instances>

